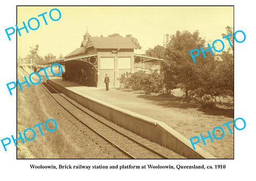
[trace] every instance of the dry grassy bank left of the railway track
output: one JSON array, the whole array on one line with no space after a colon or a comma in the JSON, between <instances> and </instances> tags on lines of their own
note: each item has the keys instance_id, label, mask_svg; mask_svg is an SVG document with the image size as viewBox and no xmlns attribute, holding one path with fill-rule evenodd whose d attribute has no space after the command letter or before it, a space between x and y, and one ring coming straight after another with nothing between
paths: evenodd
<instances>
[{"instance_id":1,"label":"dry grassy bank left of the railway track","mask_svg":"<svg viewBox=\"0 0 256 181\"><path fill-rule=\"evenodd\" d=\"M21 81L21 80L20 80ZM40 86L40 85L37 85ZM23 135L23 131L26 128L33 128L35 125L45 122L49 117L45 115L40 105L39 97L35 94L35 86L30 88L25 87L23 91L18 89L17 93L17 113L18 113L18 125L17 131ZM50 121L51 122L51 121ZM47 124L50 129L54 128L54 124ZM80 151L74 144L70 143L65 133L61 128L56 129L53 132L49 132L45 129L44 124L41 125L44 135L42 136L38 128L34 128L36 131L36 137L33 141L27 141L25 138L25 144L18 141L17 158L40 158L40 159L65 159L65 158L84 158L84 153ZM29 131L26 135L29 136Z\"/></svg>"}]
</instances>

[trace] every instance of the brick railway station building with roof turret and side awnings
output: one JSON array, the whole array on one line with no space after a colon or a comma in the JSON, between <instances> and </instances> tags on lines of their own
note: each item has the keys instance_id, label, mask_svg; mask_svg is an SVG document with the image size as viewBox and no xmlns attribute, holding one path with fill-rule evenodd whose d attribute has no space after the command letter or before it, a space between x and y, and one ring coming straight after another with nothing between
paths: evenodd
<instances>
[{"instance_id":1,"label":"brick railway station building with roof turret and side awnings","mask_svg":"<svg viewBox=\"0 0 256 181\"><path fill-rule=\"evenodd\" d=\"M65 68L77 67L89 73L95 87L105 87L108 74L109 87L119 87L118 78L123 73L135 71L134 64L158 62L161 59L134 54L137 46L126 37L91 37L86 31L79 48L58 61ZM75 70L75 69L74 69Z\"/></svg>"}]
</instances>

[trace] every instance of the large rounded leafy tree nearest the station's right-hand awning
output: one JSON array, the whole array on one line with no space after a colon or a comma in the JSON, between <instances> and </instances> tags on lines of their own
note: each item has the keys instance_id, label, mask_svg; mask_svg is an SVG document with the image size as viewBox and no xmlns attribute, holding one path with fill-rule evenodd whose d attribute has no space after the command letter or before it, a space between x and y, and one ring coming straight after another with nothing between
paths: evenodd
<instances>
[{"instance_id":1,"label":"large rounded leafy tree nearest the station's right-hand awning","mask_svg":"<svg viewBox=\"0 0 256 181\"><path fill-rule=\"evenodd\" d=\"M197 63L194 63L189 51L200 46L205 50L204 45L205 40L199 37L197 30L193 34L189 31L177 31L175 35L171 36L171 40L166 46L166 59L162 62L163 83L169 89L178 87L185 89L187 102L190 101L189 91L198 88L200 79L198 65L201 64L201 60L205 61L203 56L199 55Z\"/></svg>"}]
</instances>

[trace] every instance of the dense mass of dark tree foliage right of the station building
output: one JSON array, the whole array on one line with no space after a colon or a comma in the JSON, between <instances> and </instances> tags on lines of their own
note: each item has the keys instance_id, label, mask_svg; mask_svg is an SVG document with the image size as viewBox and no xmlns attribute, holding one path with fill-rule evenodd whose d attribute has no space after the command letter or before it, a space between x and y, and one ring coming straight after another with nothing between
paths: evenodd
<instances>
[{"instance_id":1,"label":"dense mass of dark tree foliage right of the station building","mask_svg":"<svg viewBox=\"0 0 256 181\"><path fill-rule=\"evenodd\" d=\"M229 35L230 27L227 27ZM225 35L225 34L223 34ZM230 38L231 40L231 38ZM231 40L231 42L234 40ZM216 61L210 51L202 52L194 63L189 51L195 48L206 50L205 40L199 37L199 32L191 34L188 31L177 31L167 44L166 59L162 63L163 83L169 89L183 88L186 100L191 97L212 104L215 96L234 95L234 59L232 48L223 51L222 61ZM212 49L213 50L213 49Z\"/></svg>"}]
</instances>

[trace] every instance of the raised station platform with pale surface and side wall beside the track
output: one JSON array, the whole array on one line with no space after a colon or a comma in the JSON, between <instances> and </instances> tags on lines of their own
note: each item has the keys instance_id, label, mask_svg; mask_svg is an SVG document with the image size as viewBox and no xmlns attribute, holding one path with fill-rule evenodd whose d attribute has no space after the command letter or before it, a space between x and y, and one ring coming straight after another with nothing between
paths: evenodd
<instances>
[{"instance_id":1,"label":"raised station platform with pale surface and side wall beside the track","mask_svg":"<svg viewBox=\"0 0 256 181\"><path fill-rule=\"evenodd\" d=\"M165 112L161 110L163 107L142 98L145 95L142 91L121 91L117 88L106 91L103 88L62 81L59 77L51 77L47 83L85 108L150 141L169 147L186 158L215 158L199 146L195 151L188 138L163 120L159 121Z\"/></svg>"}]
</instances>

